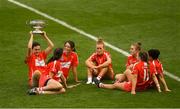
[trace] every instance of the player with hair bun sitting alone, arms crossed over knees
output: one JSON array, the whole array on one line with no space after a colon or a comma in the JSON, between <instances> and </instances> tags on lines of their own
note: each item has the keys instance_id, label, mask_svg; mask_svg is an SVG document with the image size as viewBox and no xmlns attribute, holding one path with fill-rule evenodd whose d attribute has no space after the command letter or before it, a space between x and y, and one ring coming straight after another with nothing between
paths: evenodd
<instances>
[{"instance_id":1,"label":"player with hair bun sitting alone, arms crossed over knees","mask_svg":"<svg viewBox=\"0 0 180 109\"><path fill-rule=\"evenodd\" d=\"M88 81L86 84L93 83L92 78L95 76L98 80L104 77L114 79L112 69L112 60L110 54L105 51L104 41L99 38L96 42L96 52L94 52L86 61Z\"/></svg>"}]
</instances>

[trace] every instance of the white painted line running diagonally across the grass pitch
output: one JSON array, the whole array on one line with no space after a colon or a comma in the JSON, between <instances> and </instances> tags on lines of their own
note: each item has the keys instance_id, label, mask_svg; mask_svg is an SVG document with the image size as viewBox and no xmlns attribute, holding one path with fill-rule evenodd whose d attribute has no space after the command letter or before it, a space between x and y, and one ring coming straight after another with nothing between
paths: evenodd
<instances>
[{"instance_id":1,"label":"white painted line running diagonally across the grass pitch","mask_svg":"<svg viewBox=\"0 0 180 109\"><path fill-rule=\"evenodd\" d=\"M86 32L84 32L84 31L82 31L82 30L80 30L80 29L78 29L78 28L76 28L76 27L74 27L74 26L69 25L68 23L66 23L66 22L64 22L64 21L62 21L62 20L60 20L60 19L54 18L54 17L52 17L52 16L50 16L50 15L48 15L48 14L46 14L46 13L43 13L43 12L37 10L37 9L34 9L34 8L30 7L30 6L27 6L27 5L25 5L25 4L22 4L22 3L20 3L20 2L17 2L17 1L15 1L15 0L8 0L8 1L11 2L11 3L13 3L13 4L16 4L16 5L20 6L20 7L26 8L26 9L28 9L28 10L36 13L36 14L39 14L39 15L47 18L47 19L50 19L50 20L52 20L52 21L54 21L54 22L56 22L56 23L58 23L58 24L60 24L60 25L63 25L63 26L65 26L65 27L68 28L68 29L71 29L71 30L73 30L73 31L76 31L77 33L82 34L83 36L86 36L86 37L88 37L88 38L90 38L90 39L92 39L92 40L97 41L97 39L98 39L96 36L93 36L93 35L91 35L91 34L89 34L89 33L86 33ZM110 43L108 43L108 42L105 42L105 45L108 46L109 48L111 48L111 49L113 49L113 50L115 50L115 51L123 54L124 56L129 56L129 53L128 53L128 52L126 52L126 51L124 51L124 50L122 50L122 49L120 49L120 48L118 48L118 47L115 47L114 45L112 45L112 44L110 44ZM164 71L164 73L165 73L167 76L169 76L170 78L172 78L172 79L180 82L180 78L179 78L178 76L175 76L175 75L173 75L172 73L169 73L169 72L167 72L167 71Z\"/></svg>"}]
</instances>

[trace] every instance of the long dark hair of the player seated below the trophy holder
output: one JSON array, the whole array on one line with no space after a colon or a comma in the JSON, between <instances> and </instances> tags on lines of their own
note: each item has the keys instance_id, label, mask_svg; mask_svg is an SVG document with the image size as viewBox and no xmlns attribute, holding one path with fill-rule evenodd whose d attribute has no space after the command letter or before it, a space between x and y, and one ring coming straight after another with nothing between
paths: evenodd
<instances>
[{"instance_id":1,"label":"long dark hair of the player seated below the trophy holder","mask_svg":"<svg viewBox=\"0 0 180 109\"><path fill-rule=\"evenodd\" d=\"M60 59L62 54L63 54L63 49L62 48L56 48L54 50L53 56L48 60L47 64L52 62L52 61Z\"/></svg>"}]
</instances>

